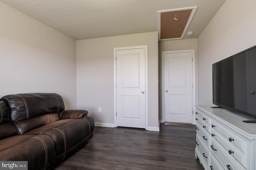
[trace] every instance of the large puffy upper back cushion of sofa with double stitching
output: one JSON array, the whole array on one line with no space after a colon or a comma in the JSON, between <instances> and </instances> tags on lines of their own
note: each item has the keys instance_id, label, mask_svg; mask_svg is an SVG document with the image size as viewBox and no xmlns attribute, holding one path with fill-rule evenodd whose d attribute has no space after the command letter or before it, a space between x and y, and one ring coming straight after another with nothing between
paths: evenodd
<instances>
[{"instance_id":1,"label":"large puffy upper back cushion of sofa with double stitching","mask_svg":"<svg viewBox=\"0 0 256 170\"><path fill-rule=\"evenodd\" d=\"M25 93L2 97L9 105L10 121L22 121L65 109L62 97L56 93Z\"/></svg>"}]
</instances>

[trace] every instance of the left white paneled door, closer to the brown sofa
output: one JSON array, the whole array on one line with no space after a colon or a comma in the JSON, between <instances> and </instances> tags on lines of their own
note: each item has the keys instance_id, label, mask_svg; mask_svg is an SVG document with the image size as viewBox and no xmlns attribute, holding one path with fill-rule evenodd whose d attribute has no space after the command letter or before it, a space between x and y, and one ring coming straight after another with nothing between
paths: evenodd
<instances>
[{"instance_id":1,"label":"left white paneled door, closer to the brown sofa","mask_svg":"<svg viewBox=\"0 0 256 170\"><path fill-rule=\"evenodd\" d=\"M146 127L146 49L116 50L116 124Z\"/></svg>"}]
</instances>

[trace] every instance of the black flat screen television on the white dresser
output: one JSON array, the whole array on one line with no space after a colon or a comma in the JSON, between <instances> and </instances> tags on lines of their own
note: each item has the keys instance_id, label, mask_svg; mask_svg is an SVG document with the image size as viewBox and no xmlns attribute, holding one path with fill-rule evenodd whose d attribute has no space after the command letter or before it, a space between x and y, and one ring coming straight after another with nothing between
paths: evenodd
<instances>
[{"instance_id":1,"label":"black flat screen television on the white dresser","mask_svg":"<svg viewBox=\"0 0 256 170\"><path fill-rule=\"evenodd\" d=\"M214 63L212 80L214 105L256 119L256 46Z\"/></svg>"}]
</instances>

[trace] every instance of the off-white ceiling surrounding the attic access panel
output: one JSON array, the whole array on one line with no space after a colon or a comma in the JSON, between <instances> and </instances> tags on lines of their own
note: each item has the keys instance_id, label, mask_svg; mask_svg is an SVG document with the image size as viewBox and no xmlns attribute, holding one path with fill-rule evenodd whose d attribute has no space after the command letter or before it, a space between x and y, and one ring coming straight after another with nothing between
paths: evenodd
<instances>
[{"instance_id":1,"label":"off-white ceiling surrounding the attic access panel","mask_svg":"<svg viewBox=\"0 0 256 170\"><path fill-rule=\"evenodd\" d=\"M157 11L197 6L187 31L197 38L225 0L0 0L55 30L83 40L158 31Z\"/></svg>"}]
</instances>

